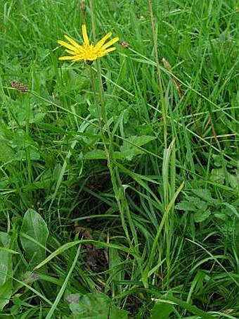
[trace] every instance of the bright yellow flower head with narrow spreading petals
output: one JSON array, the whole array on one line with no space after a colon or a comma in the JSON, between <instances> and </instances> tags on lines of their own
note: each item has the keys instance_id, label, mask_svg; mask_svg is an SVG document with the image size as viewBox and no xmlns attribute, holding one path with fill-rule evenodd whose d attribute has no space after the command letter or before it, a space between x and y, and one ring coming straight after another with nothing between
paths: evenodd
<instances>
[{"instance_id":1,"label":"bright yellow flower head with narrow spreading petals","mask_svg":"<svg viewBox=\"0 0 239 319\"><path fill-rule=\"evenodd\" d=\"M58 44L65 46L67 48L65 51L70 54L70 56L61 56L59 60L70 60L70 61L94 61L97 58L101 58L108 54L108 52L114 51L116 48L111 47L112 44L119 41L118 37L110 40L105 43L105 41L111 37L112 33L109 32L103 39L101 39L96 45L90 44L89 38L86 32L86 25L82 25L82 35L83 35L83 44L79 45L73 39L65 35L65 39L67 39L69 43L65 41L58 40Z\"/></svg>"}]
</instances>

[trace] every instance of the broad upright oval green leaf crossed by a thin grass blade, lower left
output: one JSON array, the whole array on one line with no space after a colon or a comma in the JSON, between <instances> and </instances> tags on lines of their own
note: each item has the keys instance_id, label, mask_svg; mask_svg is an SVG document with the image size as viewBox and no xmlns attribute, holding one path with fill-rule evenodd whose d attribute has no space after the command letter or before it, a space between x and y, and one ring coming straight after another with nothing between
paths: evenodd
<instances>
[{"instance_id":1,"label":"broad upright oval green leaf crossed by a thin grass blade, lower left","mask_svg":"<svg viewBox=\"0 0 239 319\"><path fill-rule=\"evenodd\" d=\"M21 235L20 241L25 250L27 261L30 262L33 268L46 257L46 249L44 247L46 247L49 231L41 215L33 209L28 209L22 221L21 232L29 237Z\"/></svg>"}]
</instances>

